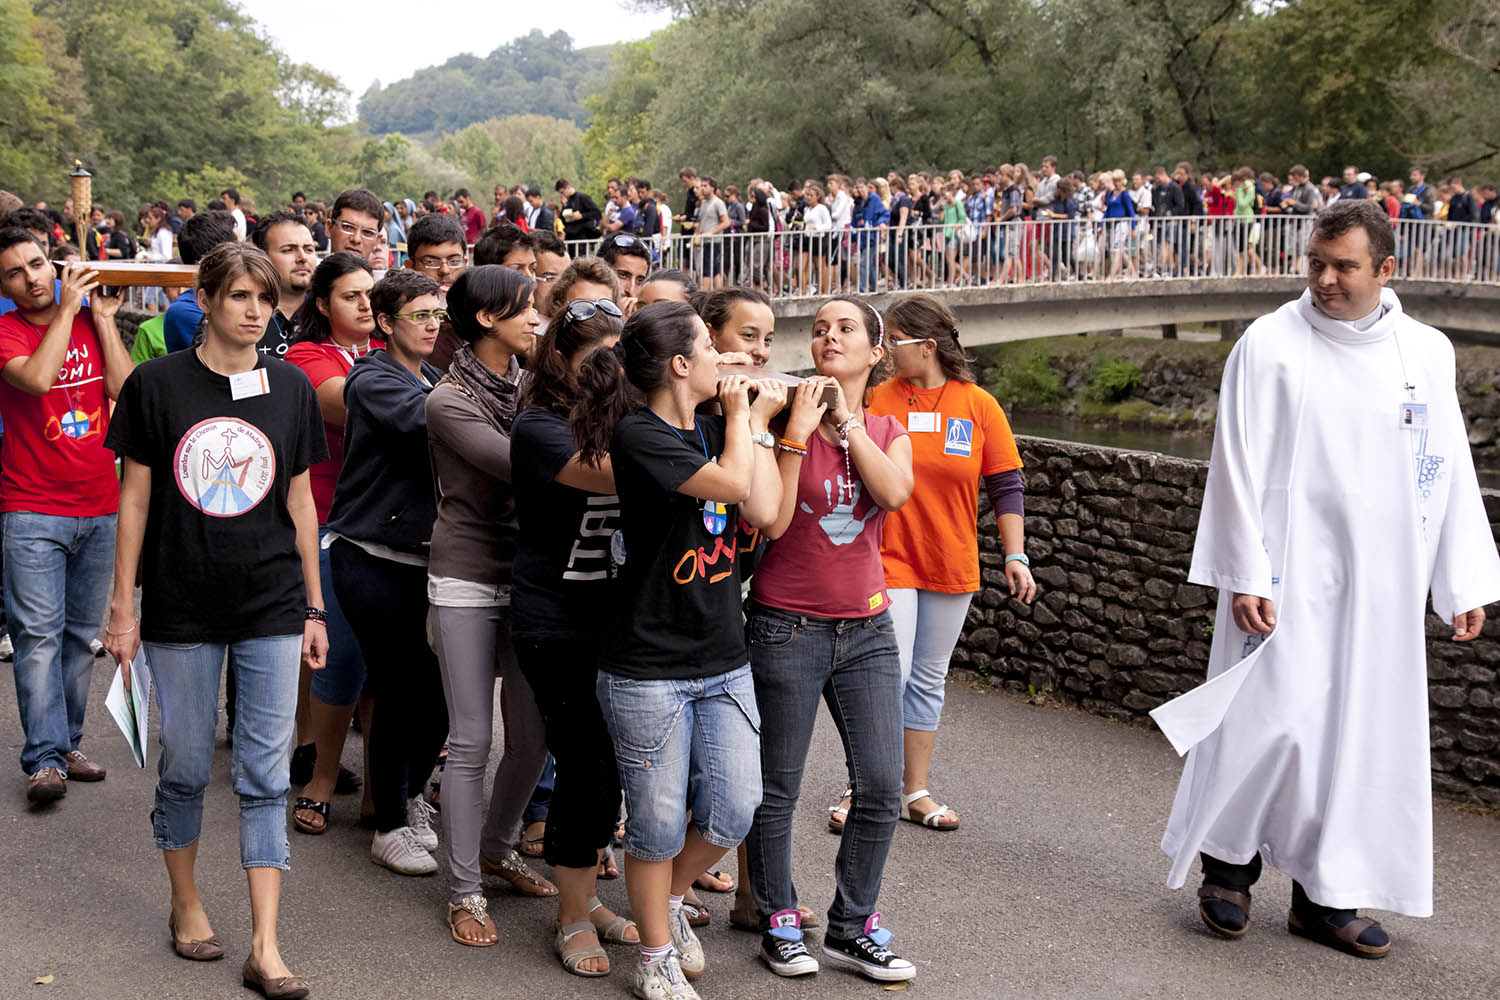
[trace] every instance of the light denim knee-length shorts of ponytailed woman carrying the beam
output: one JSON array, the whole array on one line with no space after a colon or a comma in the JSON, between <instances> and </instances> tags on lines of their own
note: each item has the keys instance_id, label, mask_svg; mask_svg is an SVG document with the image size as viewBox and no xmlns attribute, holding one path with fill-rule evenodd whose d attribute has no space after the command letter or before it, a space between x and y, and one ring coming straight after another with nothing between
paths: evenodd
<instances>
[{"instance_id":1,"label":"light denim knee-length shorts of ponytailed woman carrying the beam","mask_svg":"<svg viewBox=\"0 0 1500 1000\"><path fill-rule=\"evenodd\" d=\"M740 844L760 805L760 712L750 666L692 681L600 672L597 693L626 792L626 852L640 861L676 858L687 810L710 844Z\"/></svg>"}]
</instances>

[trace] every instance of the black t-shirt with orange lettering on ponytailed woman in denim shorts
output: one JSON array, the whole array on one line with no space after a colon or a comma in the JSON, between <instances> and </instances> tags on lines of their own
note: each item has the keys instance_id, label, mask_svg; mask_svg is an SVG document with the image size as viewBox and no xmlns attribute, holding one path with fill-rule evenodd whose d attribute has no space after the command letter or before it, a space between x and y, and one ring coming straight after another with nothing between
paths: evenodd
<instances>
[{"instance_id":1,"label":"black t-shirt with orange lettering on ponytailed woman in denim shorts","mask_svg":"<svg viewBox=\"0 0 1500 1000\"><path fill-rule=\"evenodd\" d=\"M644 681L711 678L750 660L740 615L736 504L676 489L724 450L724 418L676 429L650 409L615 427L626 571L600 669Z\"/></svg>"}]
</instances>

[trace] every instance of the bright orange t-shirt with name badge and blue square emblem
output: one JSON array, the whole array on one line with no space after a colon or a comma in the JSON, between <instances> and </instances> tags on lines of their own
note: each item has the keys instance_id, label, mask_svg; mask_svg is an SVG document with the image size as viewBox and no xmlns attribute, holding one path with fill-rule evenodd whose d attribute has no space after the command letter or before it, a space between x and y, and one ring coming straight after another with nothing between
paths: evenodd
<instances>
[{"instance_id":1,"label":"bright orange t-shirt with name badge and blue square emblem","mask_svg":"<svg viewBox=\"0 0 1500 1000\"><path fill-rule=\"evenodd\" d=\"M870 412L906 427L916 481L906 505L885 519L885 586L978 591L980 477L1022 468L1000 405L974 382L916 388L897 378L872 390Z\"/></svg>"}]
</instances>

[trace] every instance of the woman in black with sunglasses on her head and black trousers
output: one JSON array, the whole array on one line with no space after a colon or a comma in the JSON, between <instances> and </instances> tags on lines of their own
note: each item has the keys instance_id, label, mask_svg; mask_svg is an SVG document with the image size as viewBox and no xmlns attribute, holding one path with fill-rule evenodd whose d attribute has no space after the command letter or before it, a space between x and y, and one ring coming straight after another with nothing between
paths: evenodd
<instances>
[{"instance_id":1,"label":"woman in black with sunglasses on her head and black trousers","mask_svg":"<svg viewBox=\"0 0 1500 1000\"><path fill-rule=\"evenodd\" d=\"M603 849L620 805L620 774L594 685L603 634L597 609L614 607L622 552L620 498L606 457L579 459L568 429L576 369L598 346L620 340L620 315L579 300L554 316L536 349L520 415L512 427L516 561L512 568L512 642L556 759L543 858L558 900L555 948L579 976L609 972L600 940L640 940L632 921L594 895Z\"/></svg>"}]
</instances>

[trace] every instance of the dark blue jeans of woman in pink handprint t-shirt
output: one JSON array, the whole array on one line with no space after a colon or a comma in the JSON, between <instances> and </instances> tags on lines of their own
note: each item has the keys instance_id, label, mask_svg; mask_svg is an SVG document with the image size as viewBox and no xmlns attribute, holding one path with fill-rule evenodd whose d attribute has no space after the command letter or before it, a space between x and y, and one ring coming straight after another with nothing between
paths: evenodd
<instances>
[{"instance_id":1,"label":"dark blue jeans of woman in pink handprint t-shirt","mask_svg":"<svg viewBox=\"0 0 1500 1000\"><path fill-rule=\"evenodd\" d=\"M792 813L802 787L818 700L843 738L854 804L834 862L828 933L856 937L876 912L902 799L902 664L891 615L812 618L752 604L747 625L764 712L765 798L746 840L760 913L796 907ZM634 817L632 817L633 822Z\"/></svg>"}]
</instances>

